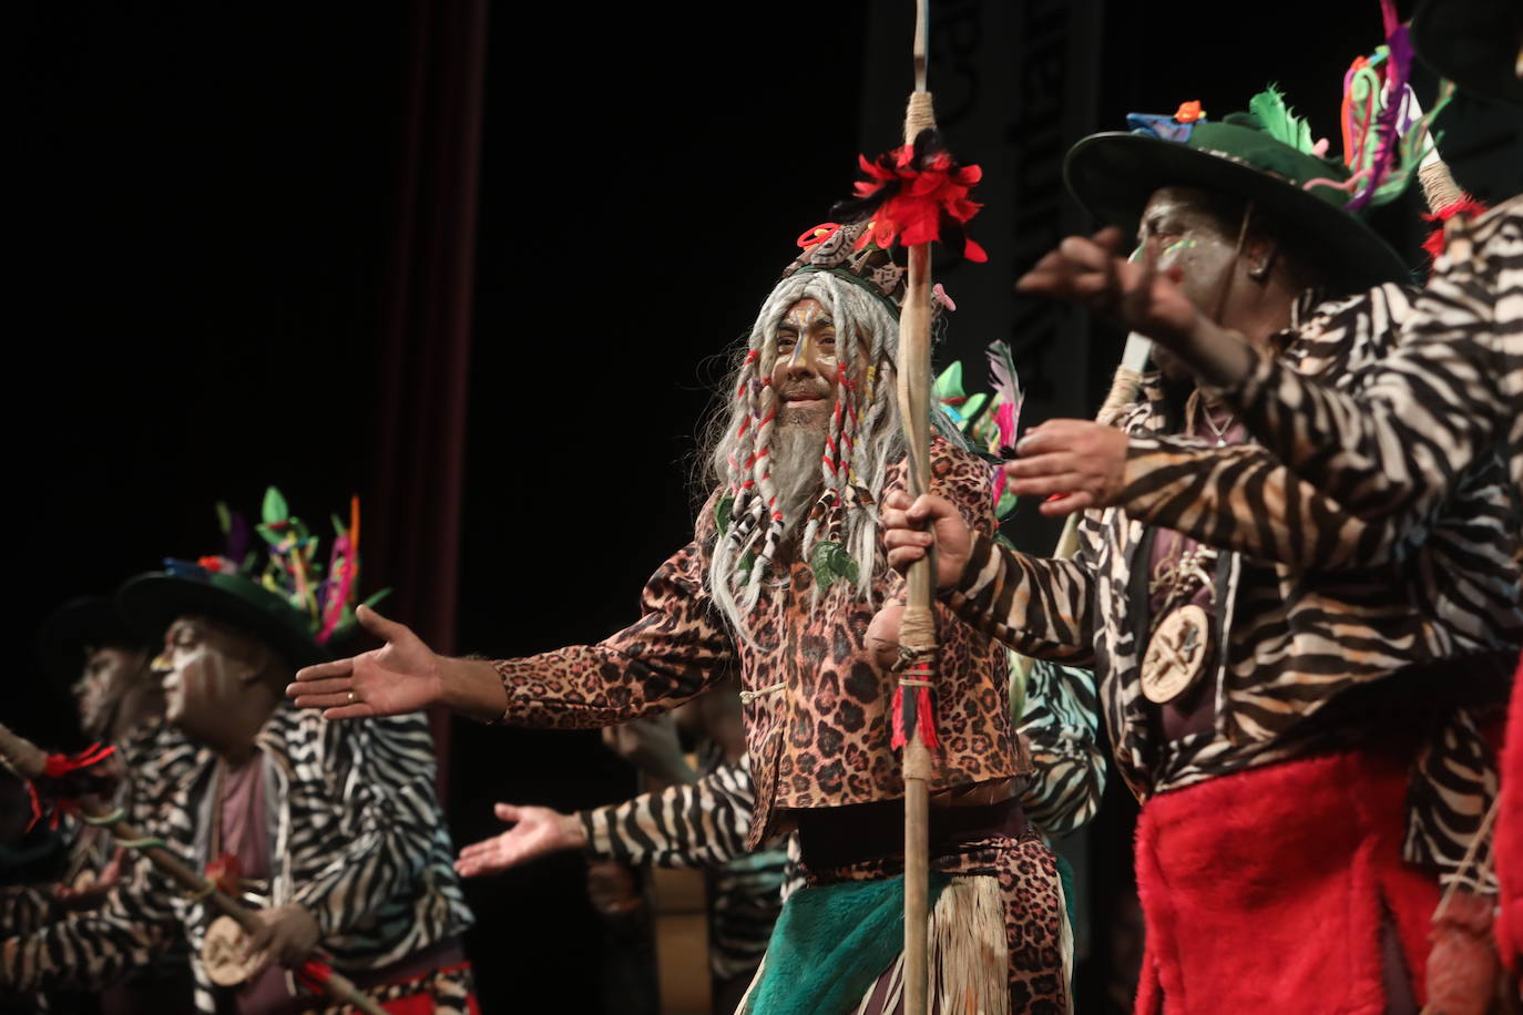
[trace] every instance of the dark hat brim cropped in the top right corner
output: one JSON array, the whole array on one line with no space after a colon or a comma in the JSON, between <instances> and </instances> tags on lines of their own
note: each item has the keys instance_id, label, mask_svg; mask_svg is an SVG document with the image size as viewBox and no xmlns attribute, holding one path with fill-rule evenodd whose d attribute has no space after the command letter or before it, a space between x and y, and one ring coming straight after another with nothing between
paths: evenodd
<instances>
[{"instance_id":1,"label":"dark hat brim cropped in the top right corner","mask_svg":"<svg viewBox=\"0 0 1523 1015\"><path fill-rule=\"evenodd\" d=\"M1520 0L1427 0L1412 15L1412 49L1461 88L1523 105L1517 76Z\"/></svg>"}]
</instances>

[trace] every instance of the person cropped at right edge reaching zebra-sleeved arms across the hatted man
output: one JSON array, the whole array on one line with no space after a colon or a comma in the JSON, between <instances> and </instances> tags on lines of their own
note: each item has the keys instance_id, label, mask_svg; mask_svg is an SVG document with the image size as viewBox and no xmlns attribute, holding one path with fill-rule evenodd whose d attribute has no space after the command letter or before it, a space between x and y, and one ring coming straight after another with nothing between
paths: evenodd
<instances>
[{"instance_id":1,"label":"person cropped at right edge reaching zebra-sleeved arms across the hatted man","mask_svg":"<svg viewBox=\"0 0 1523 1015\"><path fill-rule=\"evenodd\" d=\"M1188 449L1133 440L1127 449L1081 455L1087 460L1083 470L1094 476L1095 505L1214 533L1263 530L1267 519L1288 534L1298 516L1316 513L1323 525L1337 517L1346 522L1340 542L1365 565L1410 554L1429 539L1435 517L1453 513L1447 505L1467 495L1467 484L1494 455L1506 463L1514 504L1523 505L1523 5L1422 3L1412 20L1412 46L1454 82L1456 94L1436 120L1438 151L1448 166L1430 160L1419 170L1429 204L1444 221L1430 243L1438 260L1390 355L1366 367L1357 387L1328 383L1266 355L1234 329L1189 313L1164 280L1144 294L1138 272L1115 265L1110 271L1127 324L1182 361L1264 446ZM1453 180L1445 180L1450 169ZM1470 201L1453 187L1456 181L1493 207ZM1104 257L1086 260L1094 278L1107 274ZM1089 283L1075 277L1074 285L1072 294L1083 297ZM1068 447L1084 440L1084 425L1063 426ZM1226 487L1212 476L1232 476L1238 488L1253 488L1287 467L1304 484L1288 487L1293 496L1282 505L1215 496ZM1515 531L1517 516L1512 523ZM1483 528L1473 531L1479 545L1465 554L1464 568L1505 572L1508 546L1488 548ZM1301 542L1316 546L1316 540ZM1298 552L1287 542L1266 551L1276 558ZM1461 615L1473 604L1459 603ZM1409 843L1418 846L1413 858L1436 857L1445 869L1451 898L1438 921L1441 934L1448 933L1444 918L1488 924L1489 899L1500 892L1497 940L1515 972L1523 953L1523 918L1517 916L1523 912L1523 744L1517 733L1523 698L1515 691L1508 726L1500 799L1488 747L1465 738L1465 753L1482 761L1464 762L1474 778L1451 772L1442 779L1444 817L1436 817L1438 807L1426 808L1433 814L1427 828L1442 825L1447 834L1413 835ZM1497 811L1494 843L1483 834L1491 810ZM1467 854L1471 864L1461 870ZM1486 873L1493 860L1494 877Z\"/></svg>"}]
</instances>

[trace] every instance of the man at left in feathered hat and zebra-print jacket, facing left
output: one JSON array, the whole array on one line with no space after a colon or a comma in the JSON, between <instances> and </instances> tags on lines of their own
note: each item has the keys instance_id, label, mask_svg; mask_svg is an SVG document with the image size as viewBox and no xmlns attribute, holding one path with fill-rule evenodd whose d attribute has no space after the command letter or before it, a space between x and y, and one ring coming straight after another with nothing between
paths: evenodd
<instances>
[{"instance_id":1,"label":"man at left in feathered hat and zebra-print jacket, facing left","mask_svg":"<svg viewBox=\"0 0 1523 1015\"><path fill-rule=\"evenodd\" d=\"M131 823L256 905L259 933L224 934L201 899L139 863L99 910L5 940L0 985L110 983L183 937L201 1012L329 1010L292 978L320 953L387 1010L475 1012L460 942L471 913L425 718L324 724L280 692L353 627L358 507L326 577L274 490L260 531L260 574L171 560L119 593L137 630L163 635L152 665L178 732L134 758Z\"/></svg>"}]
</instances>

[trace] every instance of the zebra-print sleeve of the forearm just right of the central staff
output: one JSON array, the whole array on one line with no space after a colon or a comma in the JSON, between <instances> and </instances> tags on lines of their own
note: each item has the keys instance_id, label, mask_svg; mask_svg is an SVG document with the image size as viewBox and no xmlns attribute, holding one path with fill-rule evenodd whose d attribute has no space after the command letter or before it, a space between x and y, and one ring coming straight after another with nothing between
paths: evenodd
<instances>
[{"instance_id":1,"label":"zebra-print sleeve of the forearm just right of the central staff","mask_svg":"<svg viewBox=\"0 0 1523 1015\"><path fill-rule=\"evenodd\" d=\"M1094 574L1081 560L1028 557L975 531L947 604L964 622L1023 656L1094 662Z\"/></svg>"}]
</instances>

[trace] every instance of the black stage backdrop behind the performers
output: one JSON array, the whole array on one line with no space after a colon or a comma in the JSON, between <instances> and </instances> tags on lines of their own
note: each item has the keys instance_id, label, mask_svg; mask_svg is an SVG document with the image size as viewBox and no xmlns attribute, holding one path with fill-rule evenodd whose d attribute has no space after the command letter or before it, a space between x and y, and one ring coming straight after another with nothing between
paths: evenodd
<instances>
[{"instance_id":1,"label":"black stage backdrop behind the performers","mask_svg":"<svg viewBox=\"0 0 1523 1015\"><path fill-rule=\"evenodd\" d=\"M909 3L27 5L12 163L14 635L5 720L78 741L24 647L41 618L163 555L218 548L212 504L265 484L321 519L366 508L367 587L436 647L527 654L635 618L690 533L698 420L793 237L896 143ZM1403 5L1406 12L1406 5ZM1027 423L1094 411L1118 336L1010 283L1086 228L1055 166L1132 110L1221 116L1269 79L1336 138L1378 6L938 3L932 88L990 172L944 265L943 359L982 383L1017 345ZM1336 142L1334 142L1336 146ZM1400 227L1400 216L1392 218ZM1410 230L1415 233L1416 230ZM1407 237L1410 240L1410 236ZM1020 508L1036 551L1055 527ZM492 800L623 799L594 733L442 721L457 843ZM1107 928L1129 802L1089 873L1083 1012L1112 1010ZM471 886L489 1012L594 1010L580 861Z\"/></svg>"}]
</instances>

